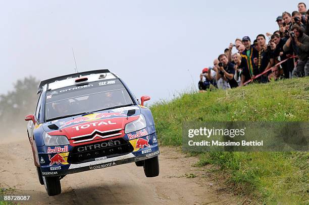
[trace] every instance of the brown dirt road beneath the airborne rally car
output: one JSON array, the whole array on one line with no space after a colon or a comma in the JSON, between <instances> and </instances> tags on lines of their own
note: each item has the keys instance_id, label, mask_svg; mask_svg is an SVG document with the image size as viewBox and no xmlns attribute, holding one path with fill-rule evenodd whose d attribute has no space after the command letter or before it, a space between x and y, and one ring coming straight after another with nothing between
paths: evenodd
<instances>
[{"instance_id":1,"label":"brown dirt road beneath the airborne rally car","mask_svg":"<svg viewBox=\"0 0 309 205\"><path fill-rule=\"evenodd\" d=\"M30 195L29 204L236 204L231 193L192 167L195 157L161 147L160 175L146 178L134 163L67 175L62 193L48 196L40 185L28 139L0 142L0 183ZM196 176L196 177L195 177ZM191 178L194 177L194 178ZM19 201L20 202L20 201Z\"/></svg>"}]
</instances>

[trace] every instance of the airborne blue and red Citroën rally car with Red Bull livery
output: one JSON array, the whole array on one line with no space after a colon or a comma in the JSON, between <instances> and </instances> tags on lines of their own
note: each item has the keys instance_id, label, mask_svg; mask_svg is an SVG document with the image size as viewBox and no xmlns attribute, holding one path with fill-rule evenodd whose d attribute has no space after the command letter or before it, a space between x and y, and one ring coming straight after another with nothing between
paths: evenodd
<instances>
[{"instance_id":1,"label":"airborne blue and red Citro\u00ebn rally car with Red Bull livery","mask_svg":"<svg viewBox=\"0 0 309 205\"><path fill-rule=\"evenodd\" d=\"M40 184L61 193L67 174L135 162L159 175L159 147L151 111L109 70L40 82L27 132Z\"/></svg>"}]
</instances>

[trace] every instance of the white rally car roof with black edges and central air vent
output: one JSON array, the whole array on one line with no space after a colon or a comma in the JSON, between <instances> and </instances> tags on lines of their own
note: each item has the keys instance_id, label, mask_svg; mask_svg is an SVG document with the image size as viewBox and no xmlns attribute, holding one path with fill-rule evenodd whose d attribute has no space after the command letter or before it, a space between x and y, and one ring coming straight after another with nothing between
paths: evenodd
<instances>
[{"instance_id":1,"label":"white rally car roof with black edges and central air vent","mask_svg":"<svg viewBox=\"0 0 309 205\"><path fill-rule=\"evenodd\" d=\"M87 78L81 82L75 82L77 79ZM38 86L38 93L41 91L42 86L47 85L48 90L54 90L72 85L78 85L85 82L93 82L98 80L118 79L118 75L111 73L109 70L95 70L87 71L75 74L69 74L65 76L59 76L56 78L47 79L41 81Z\"/></svg>"}]
</instances>

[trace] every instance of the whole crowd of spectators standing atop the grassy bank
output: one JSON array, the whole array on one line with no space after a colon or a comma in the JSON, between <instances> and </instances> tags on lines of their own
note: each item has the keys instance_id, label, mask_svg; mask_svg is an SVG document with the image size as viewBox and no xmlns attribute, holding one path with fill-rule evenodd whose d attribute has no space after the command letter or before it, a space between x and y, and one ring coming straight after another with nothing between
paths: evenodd
<instances>
[{"instance_id":1,"label":"whole crowd of spectators standing atop the grassy bank","mask_svg":"<svg viewBox=\"0 0 309 205\"><path fill-rule=\"evenodd\" d=\"M308 19L309 10L305 3L299 3L298 11L283 12L277 17L278 30L275 32L259 34L253 44L249 36L236 38L224 54L214 60L214 66L202 70L199 90L228 89L252 82L268 83L309 76ZM234 46L236 53L232 53Z\"/></svg>"}]
</instances>

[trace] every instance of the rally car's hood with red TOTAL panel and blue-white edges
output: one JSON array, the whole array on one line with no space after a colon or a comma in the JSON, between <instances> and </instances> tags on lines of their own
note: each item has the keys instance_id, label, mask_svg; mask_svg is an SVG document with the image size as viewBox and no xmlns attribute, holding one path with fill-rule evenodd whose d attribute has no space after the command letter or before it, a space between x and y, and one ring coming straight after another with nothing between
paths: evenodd
<instances>
[{"instance_id":1,"label":"rally car's hood with red TOTAL panel and blue-white edges","mask_svg":"<svg viewBox=\"0 0 309 205\"><path fill-rule=\"evenodd\" d=\"M120 137L124 135L125 125L138 119L139 115L138 106L127 106L54 120L42 127L49 135L66 135L69 140L95 136L96 132L109 134L113 130L121 132Z\"/></svg>"}]
</instances>

